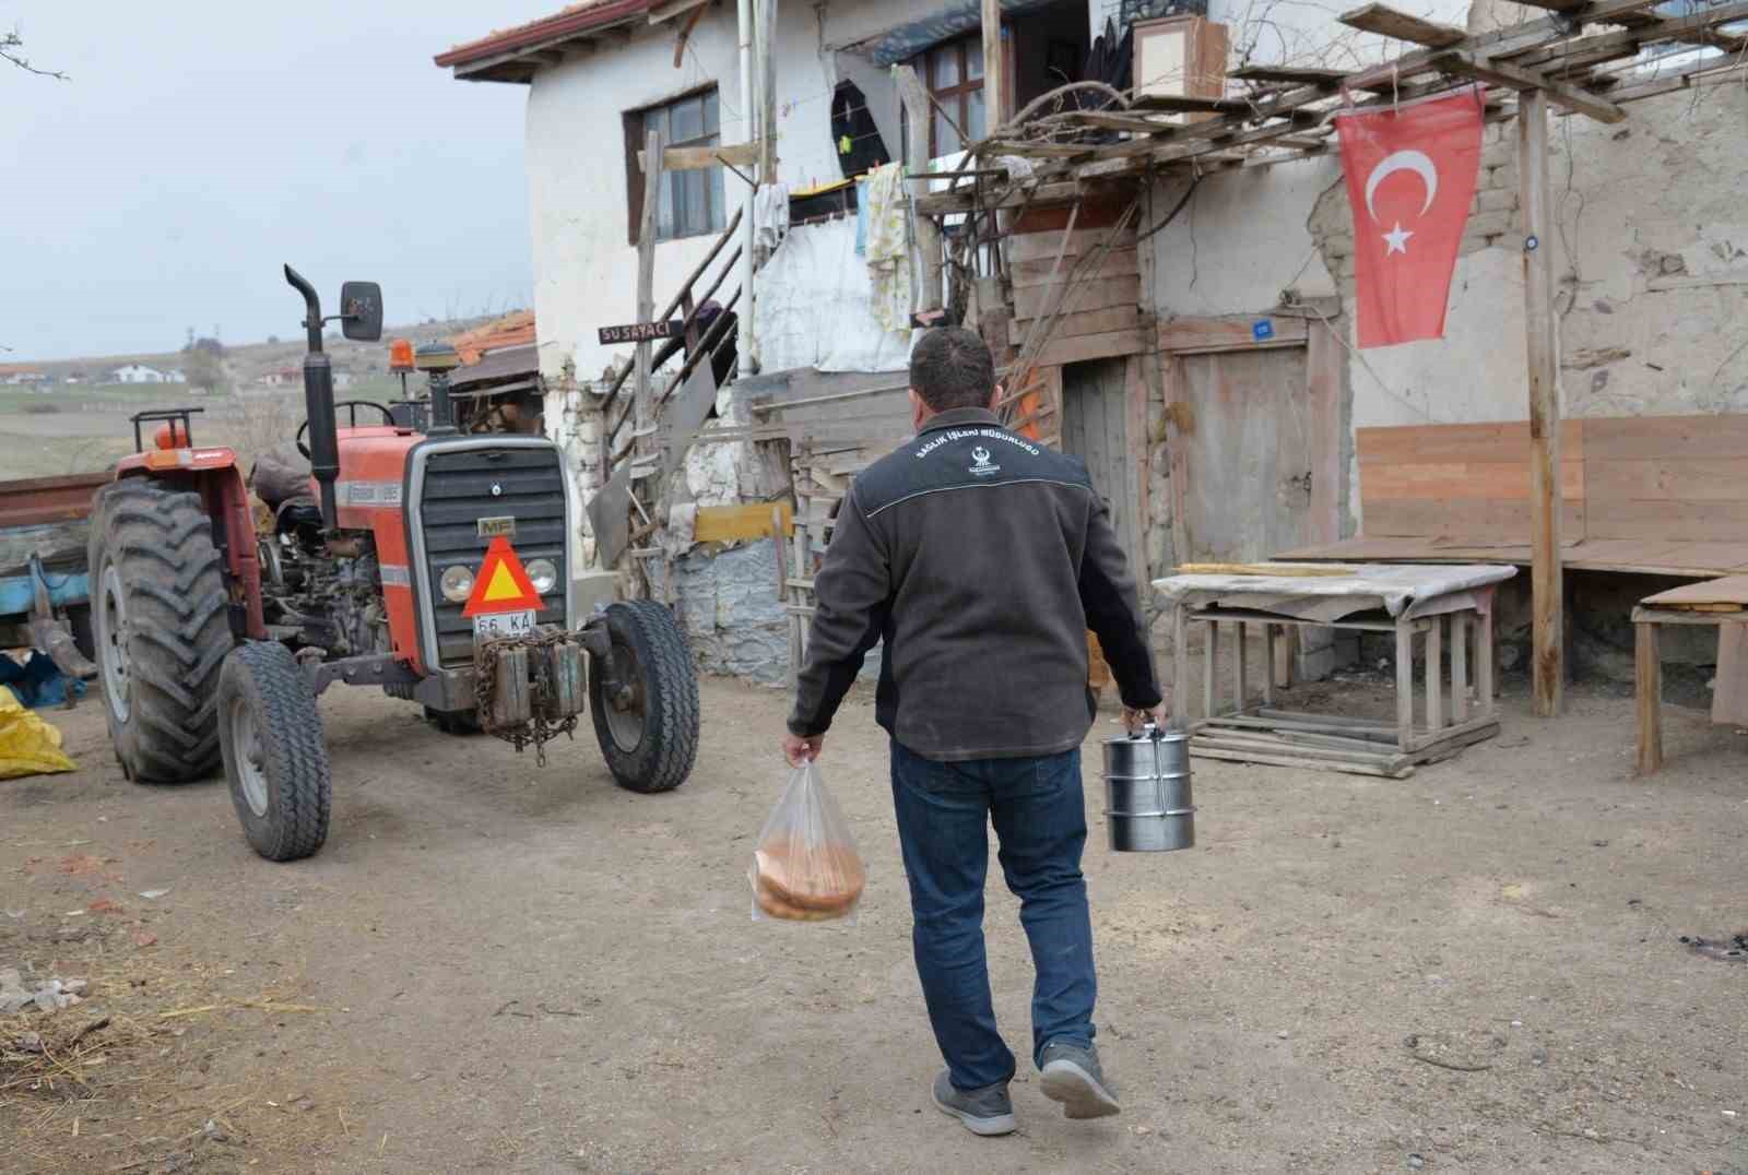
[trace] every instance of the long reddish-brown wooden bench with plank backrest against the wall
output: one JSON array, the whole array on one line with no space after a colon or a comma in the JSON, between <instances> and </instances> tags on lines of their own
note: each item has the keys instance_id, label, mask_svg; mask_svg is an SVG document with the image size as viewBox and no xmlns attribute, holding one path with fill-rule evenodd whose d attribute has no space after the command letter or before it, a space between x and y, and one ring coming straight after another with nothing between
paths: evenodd
<instances>
[{"instance_id":1,"label":"long reddish-brown wooden bench with plank backrest against the wall","mask_svg":"<svg viewBox=\"0 0 1748 1175\"><path fill-rule=\"evenodd\" d=\"M1281 560L1530 565L1530 425L1360 428L1358 539ZM1561 563L1748 572L1748 414L1561 425Z\"/></svg>"}]
</instances>

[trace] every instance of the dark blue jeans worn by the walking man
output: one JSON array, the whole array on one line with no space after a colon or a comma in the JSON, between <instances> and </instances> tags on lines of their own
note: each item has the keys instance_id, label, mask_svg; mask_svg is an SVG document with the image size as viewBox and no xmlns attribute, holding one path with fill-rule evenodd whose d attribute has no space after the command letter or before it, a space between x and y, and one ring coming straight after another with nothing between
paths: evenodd
<instances>
[{"instance_id":1,"label":"dark blue jeans worn by the walking man","mask_svg":"<svg viewBox=\"0 0 1748 1175\"><path fill-rule=\"evenodd\" d=\"M1014 1054L995 1026L982 937L991 822L1037 969L1033 1063L1051 1040L1091 1046L1098 979L1080 876L1087 839L1080 750L935 762L893 741L891 797L911 880L916 974L953 1084L981 1089L1014 1075Z\"/></svg>"}]
</instances>

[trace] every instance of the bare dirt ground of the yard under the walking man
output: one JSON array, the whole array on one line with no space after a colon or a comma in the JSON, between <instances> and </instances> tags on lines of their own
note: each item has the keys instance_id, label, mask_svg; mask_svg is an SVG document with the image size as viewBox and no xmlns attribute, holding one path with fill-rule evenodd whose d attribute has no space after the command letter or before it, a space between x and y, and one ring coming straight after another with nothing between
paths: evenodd
<instances>
[{"instance_id":1,"label":"bare dirt ground of the yard under the walking man","mask_svg":"<svg viewBox=\"0 0 1748 1175\"><path fill-rule=\"evenodd\" d=\"M1748 1172L1748 738L1575 691L1409 780L1196 766L1199 845L1113 855L1087 754L1099 1044L1122 1117L1023 1068L1017 1135L937 1114L886 755L867 699L822 766L869 860L855 925L748 920L781 694L704 685L697 771L615 789L330 691L327 848L255 859L220 782L0 783L0 967L89 1000L0 1021L9 1172ZM1106 729L1096 729L1094 740ZM154 899L142 892L168 890ZM1028 1051L1031 969L991 885ZM79 1030L108 1019L77 1044Z\"/></svg>"}]
</instances>

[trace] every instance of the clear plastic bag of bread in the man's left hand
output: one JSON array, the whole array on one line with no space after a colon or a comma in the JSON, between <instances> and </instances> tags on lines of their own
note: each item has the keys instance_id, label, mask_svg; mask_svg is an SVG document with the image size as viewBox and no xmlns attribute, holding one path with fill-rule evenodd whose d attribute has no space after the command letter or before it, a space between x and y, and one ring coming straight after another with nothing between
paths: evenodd
<instances>
[{"instance_id":1,"label":"clear plastic bag of bread in the man's left hand","mask_svg":"<svg viewBox=\"0 0 1748 1175\"><path fill-rule=\"evenodd\" d=\"M746 880L753 921L830 921L850 916L862 900L862 855L811 761L790 773L759 832Z\"/></svg>"}]
</instances>

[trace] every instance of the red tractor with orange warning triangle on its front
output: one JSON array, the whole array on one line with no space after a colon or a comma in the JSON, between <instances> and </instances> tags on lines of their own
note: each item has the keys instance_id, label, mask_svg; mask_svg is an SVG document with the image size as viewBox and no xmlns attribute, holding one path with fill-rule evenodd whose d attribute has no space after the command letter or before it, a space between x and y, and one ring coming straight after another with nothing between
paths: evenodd
<instances>
[{"instance_id":1,"label":"red tractor with orange warning triangle on its front","mask_svg":"<svg viewBox=\"0 0 1748 1175\"><path fill-rule=\"evenodd\" d=\"M442 355L423 430L385 404L336 404L323 325L379 339L381 292L348 282L341 313L323 318L290 266L285 280L306 308L297 448L311 476L269 504L271 528L255 525L236 455L194 444L201 409L135 416L140 451L96 495L93 629L128 778L180 783L222 762L255 852L309 857L332 794L316 696L339 682L423 703L449 731L533 743L542 761L544 743L593 710L622 787L678 787L697 754L685 638L650 601L573 615L577 530L558 448L458 434ZM493 593L514 607L491 605Z\"/></svg>"}]
</instances>

